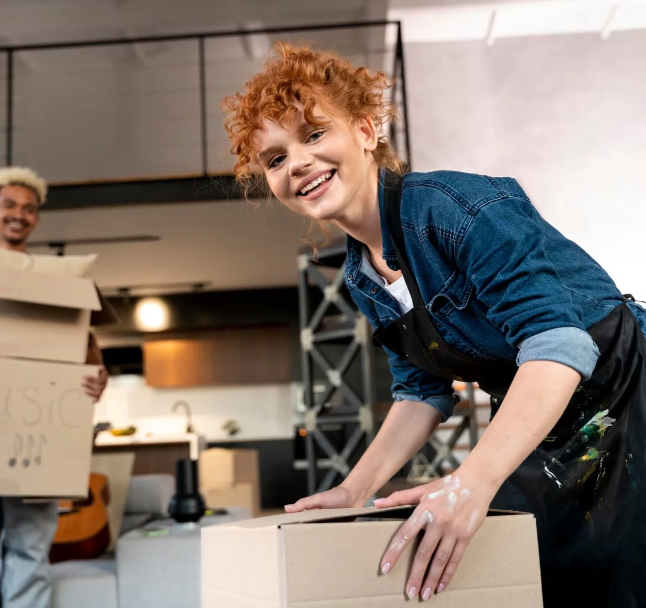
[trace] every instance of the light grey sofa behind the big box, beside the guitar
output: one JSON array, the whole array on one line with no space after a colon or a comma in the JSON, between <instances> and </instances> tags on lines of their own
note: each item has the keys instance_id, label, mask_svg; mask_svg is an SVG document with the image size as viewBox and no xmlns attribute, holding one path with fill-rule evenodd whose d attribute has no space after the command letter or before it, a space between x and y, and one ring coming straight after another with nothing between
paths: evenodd
<instances>
[{"instance_id":1,"label":"light grey sofa behind the big box, beside the guitar","mask_svg":"<svg viewBox=\"0 0 646 608\"><path fill-rule=\"evenodd\" d=\"M52 565L52 608L200 608L200 532L166 519L173 492L171 475L134 476L116 551ZM249 517L243 507L228 511L202 525Z\"/></svg>"}]
</instances>

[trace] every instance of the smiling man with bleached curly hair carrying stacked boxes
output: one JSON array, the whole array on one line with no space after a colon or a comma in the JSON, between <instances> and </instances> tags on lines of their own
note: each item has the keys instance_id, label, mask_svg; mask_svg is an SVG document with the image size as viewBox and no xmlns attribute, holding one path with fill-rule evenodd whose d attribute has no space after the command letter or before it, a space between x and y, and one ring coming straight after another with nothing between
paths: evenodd
<instances>
[{"instance_id":1,"label":"smiling man with bleached curly hair carrying stacked boxes","mask_svg":"<svg viewBox=\"0 0 646 608\"><path fill-rule=\"evenodd\" d=\"M38 225L46 197L47 183L32 170L0 168L1 248L26 252L27 239ZM101 365L97 376L86 376L83 381L83 389L96 403L105 389L107 371L92 332L86 362ZM49 551L58 525L57 503L23 503L21 498L0 497L0 515L3 608L49 608Z\"/></svg>"}]
</instances>

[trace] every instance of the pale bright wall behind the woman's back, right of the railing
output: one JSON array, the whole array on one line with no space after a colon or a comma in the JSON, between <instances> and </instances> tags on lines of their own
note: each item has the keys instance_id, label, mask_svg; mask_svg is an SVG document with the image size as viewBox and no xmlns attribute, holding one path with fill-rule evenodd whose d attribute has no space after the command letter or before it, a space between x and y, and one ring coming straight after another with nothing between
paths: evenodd
<instances>
[{"instance_id":1,"label":"pale bright wall behind the woman's back, right of the railing","mask_svg":"<svg viewBox=\"0 0 646 608\"><path fill-rule=\"evenodd\" d=\"M513 176L646 299L646 32L407 44L413 169Z\"/></svg>"}]
</instances>

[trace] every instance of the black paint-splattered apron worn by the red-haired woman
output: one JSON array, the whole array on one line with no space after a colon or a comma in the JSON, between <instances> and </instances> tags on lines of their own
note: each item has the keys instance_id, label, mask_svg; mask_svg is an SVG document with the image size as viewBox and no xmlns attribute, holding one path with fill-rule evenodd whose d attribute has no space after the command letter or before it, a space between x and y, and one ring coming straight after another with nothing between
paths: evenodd
<instances>
[{"instance_id":1,"label":"black paint-splattered apron worn by the red-haired woman","mask_svg":"<svg viewBox=\"0 0 646 608\"><path fill-rule=\"evenodd\" d=\"M401 178L388 176L385 195L413 309L375 338L435 376L477 382L493 417L516 364L482 362L444 342L408 264ZM536 516L546 608L646 607L646 341L626 299L588 329L601 352L592 378L492 502Z\"/></svg>"}]
</instances>

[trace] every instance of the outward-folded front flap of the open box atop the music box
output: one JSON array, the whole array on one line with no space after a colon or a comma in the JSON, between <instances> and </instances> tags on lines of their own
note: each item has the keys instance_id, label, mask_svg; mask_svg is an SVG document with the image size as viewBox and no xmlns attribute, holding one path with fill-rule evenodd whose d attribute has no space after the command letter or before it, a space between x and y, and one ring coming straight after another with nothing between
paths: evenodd
<instances>
[{"instance_id":1,"label":"outward-folded front flap of the open box atop the music box","mask_svg":"<svg viewBox=\"0 0 646 608\"><path fill-rule=\"evenodd\" d=\"M0 298L74 309L100 310L92 279L0 269Z\"/></svg>"}]
</instances>

